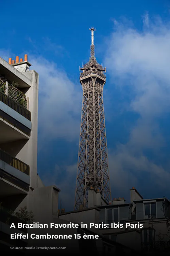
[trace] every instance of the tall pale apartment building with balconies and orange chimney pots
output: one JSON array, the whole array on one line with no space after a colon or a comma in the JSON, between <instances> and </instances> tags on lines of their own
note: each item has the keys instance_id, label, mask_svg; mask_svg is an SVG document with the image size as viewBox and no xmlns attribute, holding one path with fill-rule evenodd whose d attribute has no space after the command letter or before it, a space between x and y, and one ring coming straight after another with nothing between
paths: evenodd
<instances>
[{"instance_id":1,"label":"tall pale apartment building with balconies and orange chimney pots","mask_svg":"<svg viewBox=\"0 0 170 256\"><path fill-rule=\"evenodd\" d=\"M29 211L29 192L37 188L38 74L30 66L27 55L0 58L0 230L6 232L1 246L11 242L9 212L22 206Z\"/></svg>"}]
</instances>

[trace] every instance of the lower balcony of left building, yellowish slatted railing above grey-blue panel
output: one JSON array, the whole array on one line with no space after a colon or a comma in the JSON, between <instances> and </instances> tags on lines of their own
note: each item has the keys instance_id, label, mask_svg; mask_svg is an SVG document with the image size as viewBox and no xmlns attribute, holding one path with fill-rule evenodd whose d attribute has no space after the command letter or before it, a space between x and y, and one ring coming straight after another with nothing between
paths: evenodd
<instances>
[{"instance_id":1,"label":"lower balcony of left building, yellowish slatted railing above grey-blue panel","mask_svg":"<svg viewBox=\"0 0 170 256\"><path fill-rule=\"evenodd\" d=\"M0 196L27 194L29 166L0 149Z\"/></svg>"}]
</instances>

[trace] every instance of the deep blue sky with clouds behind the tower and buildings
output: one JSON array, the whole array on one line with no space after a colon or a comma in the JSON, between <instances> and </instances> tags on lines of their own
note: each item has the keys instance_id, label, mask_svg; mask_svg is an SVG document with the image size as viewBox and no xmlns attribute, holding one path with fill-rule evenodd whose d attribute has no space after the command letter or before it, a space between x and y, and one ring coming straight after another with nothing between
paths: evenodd
<instances>
[{"instance_id":1,"label":"deep blue sky with clouds behind the tower and buildings","mask_svg":"<svg viewBox=\"0 0 170 256\"><path fill-rule=\"evenodd\" d=\"M10 6L10 8L9 8ZM1 3L0 56L28 54L39 73L38 173L72 209L82 88L94 26L104 87L112 197L170 198L170 3L11 1Z\"/></svg>"}]
</instances>

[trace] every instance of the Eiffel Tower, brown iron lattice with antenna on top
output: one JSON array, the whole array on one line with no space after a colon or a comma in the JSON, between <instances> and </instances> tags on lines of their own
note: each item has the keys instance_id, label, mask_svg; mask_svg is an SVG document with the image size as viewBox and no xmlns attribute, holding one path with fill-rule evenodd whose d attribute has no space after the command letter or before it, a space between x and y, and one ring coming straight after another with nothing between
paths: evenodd
<instances>
[{"instance_id":1,"label":"Eiffel Tower, brown iron lattice with antenna on top","mask_svg":"<svg viewBox=\"0 0 170 256\"><path fill-rule=\"evenodd\" d=\"M80 68L83 102L74 210L88 207L88 189L90 188L100 191L106 202L111 200L103 106L106 68L96 60L95 29L90 30L90 59Z\"/></svg>"}]
</instances>

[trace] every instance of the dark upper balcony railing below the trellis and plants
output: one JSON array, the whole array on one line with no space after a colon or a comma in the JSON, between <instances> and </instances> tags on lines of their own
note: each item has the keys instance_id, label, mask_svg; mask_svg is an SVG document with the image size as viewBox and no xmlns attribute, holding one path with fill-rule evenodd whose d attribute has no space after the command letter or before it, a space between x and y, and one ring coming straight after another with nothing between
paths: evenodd
<instances>
[{"instance_id":1,"label":"dark upper balcony railing below the trellis and plants","mask_svg":"<svg viewBox=\"0 0 170 256\"><path fill-rule=\"evenodd\" d=\"M0 101L31 121L31 112L0 91Z\"/></svg>"}]
</instances>

